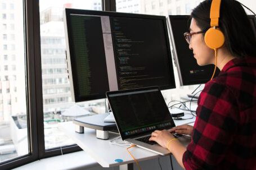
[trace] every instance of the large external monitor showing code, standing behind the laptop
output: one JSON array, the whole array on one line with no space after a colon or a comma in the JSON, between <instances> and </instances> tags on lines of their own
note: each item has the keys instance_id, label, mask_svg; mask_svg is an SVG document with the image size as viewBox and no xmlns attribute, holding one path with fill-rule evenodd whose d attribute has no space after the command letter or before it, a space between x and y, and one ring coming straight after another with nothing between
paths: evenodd
<instances>
[{"instance_id":1,"label":"large external monitor showing code, standing behind the laptop","mask_svg":"<svg viewBox=\"0 0 256 170\"><path fill-rule=\"evenodd\" d=\"M164 16L65 9L66 54L75 102L106 91L175 88Z\"/></svg>"}]
</instances>

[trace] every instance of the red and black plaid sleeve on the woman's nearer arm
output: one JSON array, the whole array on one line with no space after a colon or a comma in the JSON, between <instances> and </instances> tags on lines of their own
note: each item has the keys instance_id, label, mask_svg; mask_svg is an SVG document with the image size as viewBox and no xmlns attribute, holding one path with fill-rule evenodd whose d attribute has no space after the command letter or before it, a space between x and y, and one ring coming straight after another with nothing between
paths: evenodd
<instances>
[{"instance_id":1,"label":"red and black plaid sleeve on the woman's nearer arm","mask_svg":"<svg viewBox=\"0 0 256 170\"><path fill-rule=\"evenodd\" d=\"M214 169L226 159L224 155L239 127L235 100L226 85L214 81L205 84L196 109L191 143L183 154L186 169Z\"/></svg>"}]
</instances>

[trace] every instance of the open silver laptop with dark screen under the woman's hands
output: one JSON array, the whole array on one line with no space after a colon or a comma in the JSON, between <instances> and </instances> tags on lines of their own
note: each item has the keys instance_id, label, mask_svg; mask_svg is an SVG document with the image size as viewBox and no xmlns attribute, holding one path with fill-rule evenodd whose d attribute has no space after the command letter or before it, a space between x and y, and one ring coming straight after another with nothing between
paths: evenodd
<instances>
[{"instance_id":1,"label":"open silver laptop with dark screen under the woman's hands","mask_svg":"<svg viewBox=\"0 0 256 170\"><path fill-rule=\"evenodd\" d=\"M160 155L170 153L155 141L149 141L153 131L175 127L157 86L109 91L106 96L122 140Z\"/></svg>"}]
</instances>

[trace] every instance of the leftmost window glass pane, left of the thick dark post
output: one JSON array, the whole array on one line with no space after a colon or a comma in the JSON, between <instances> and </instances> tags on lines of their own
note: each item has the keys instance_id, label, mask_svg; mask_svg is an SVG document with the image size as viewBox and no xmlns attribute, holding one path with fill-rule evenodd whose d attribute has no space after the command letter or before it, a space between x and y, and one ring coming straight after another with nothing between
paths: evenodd
<instances>
[{"instance_id":1,"label":"leftmost window glass pane, left of the thick dark post","mask_svg":"<svg viewBox=\"0 0 256 170\"><path fill-rule=\"evenodd\" d=\"M23 10L0 0L0 163L29 153Z\"/></svg>"}]
</instances>

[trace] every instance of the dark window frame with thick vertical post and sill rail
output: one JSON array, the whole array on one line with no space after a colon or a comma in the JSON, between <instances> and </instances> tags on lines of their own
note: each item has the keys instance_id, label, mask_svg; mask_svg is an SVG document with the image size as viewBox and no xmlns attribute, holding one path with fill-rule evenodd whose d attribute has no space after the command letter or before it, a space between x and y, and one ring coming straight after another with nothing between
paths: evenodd
<instances>
[{"instance_id":1,"label":"dark window frame with thick vertical post and sill rail","mask_svg":"<svg viewBox=\"0 0 256 170\"><path fill-rule=\"evenodd\" d=\"M102 0L102 11L116 11L115 5L115 0ZM60 147L45 150L39 0L23 0L23 7L29 153L0 163L0 169L82 150L76 144L62 147L62 151Z\"/></svg>"}]
</instances>

